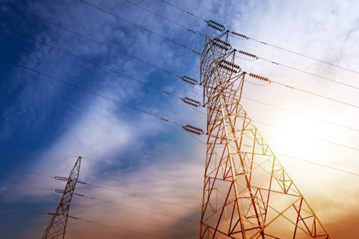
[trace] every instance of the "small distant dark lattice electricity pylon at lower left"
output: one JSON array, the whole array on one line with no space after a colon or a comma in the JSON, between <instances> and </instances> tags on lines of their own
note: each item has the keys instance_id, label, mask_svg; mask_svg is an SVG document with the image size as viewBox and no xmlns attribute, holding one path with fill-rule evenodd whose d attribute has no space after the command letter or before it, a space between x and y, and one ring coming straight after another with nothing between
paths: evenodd
<instances>
[{"instance_id":1,"label":"small distant dark lattice electricity pylon at lower left","mask_svg":"<svg viewBox=\"0 0 359 239\"><path fill-rule=\"evenodd\" d=\"M68 214L70 211L70 203L72 195L74 194L74 188L76 187L77 179L79 178L79 166L81 164L81 157L77 158L74 168L72 168L69 178L67 179L64 193L60 204L57 206L53 218L46 228L43 235L43 239L49 238L64 238L66 231L66 223Z\"/></svg>"}]
</instances>

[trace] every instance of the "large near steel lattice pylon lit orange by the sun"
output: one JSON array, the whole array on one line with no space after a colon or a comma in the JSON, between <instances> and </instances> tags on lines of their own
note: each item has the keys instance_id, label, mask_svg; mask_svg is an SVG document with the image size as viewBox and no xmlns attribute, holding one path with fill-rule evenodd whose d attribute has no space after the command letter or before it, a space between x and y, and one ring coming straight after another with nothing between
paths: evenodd
<instances>
[{"instance_id":1,"label":"large near steel lattice pylon lit orange by the sun","mask_svg":"<svg viewBox=\"0 0 359 239\"><path fill-rule=\"evenodd\" d=\"M331 238L243 109L238 53L227 32L207 36L201 54L208 138L200 238Z\"/></svg>"}]
</instances>

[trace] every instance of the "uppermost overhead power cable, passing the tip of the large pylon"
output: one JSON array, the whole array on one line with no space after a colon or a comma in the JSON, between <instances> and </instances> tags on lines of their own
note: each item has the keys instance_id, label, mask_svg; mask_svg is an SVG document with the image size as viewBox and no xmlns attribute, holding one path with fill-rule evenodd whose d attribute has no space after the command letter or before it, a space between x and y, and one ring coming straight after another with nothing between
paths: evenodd
<instances>
[{"instance_id":1,"label":"uppermost overhead power cable, passing the tip of the large pylon","mask_svg":"<svg viewBox=\"0 0 359 239\"><path fill-rule=\"evenodd\" d=\"M189 14L190 16L194 16L195 18L198 18L198 19L200 19L201 21L204 21L205 23L209 23L209 21L207 21L207 20L205 20L205 19L203 19L203 18L201 18L201 17L195 15L194 13L190 13L189 11L186 11L186 10L184 10L183 8L180 8L180 7L178 7L178 6L175 6L175 4L170 4L168 1L165 1L165 0L159 0L159 1L163 1L163 2L165 2L166 4L168 4L168 5L170 5L170 6L173 6L173 7L177 8L177 9L179 9L180 11L183 11L184 13ZM351 72L353 72L353 73L359 74L358 71L354 71L354 70L352 70L352 69L348 69L348 68L343 67L343 66L338 66L338 65L336 65L336 64L332 64L332 63L330 63L330 62L326 62L326 61L321 60L321 59L317 59L317 58L314 58L314 57L310 57L310 56L308 56L308 55L306 55L306 54L302 54L302 53L299 53L299 52L294 52L294 51L292 51L292 50L290 50L290 49L286 49L286 48L284 48L284 47L278 47L277 45L272 45L272 44L270 44L270 43L263 42L263 41L261 41L261 40L257 40L257 39L252 38L252 37L248 37L248 36L243 35L243 34L240 34L240 33L238 33L238 35L239 35L239 37L236 37L236 36L234 36L234 35L233 35L233 36L231 35L231 36L232 36L232 37L235 37L235 38L238 38L238 39L253 40L253 41L255 41L255 42L260 42L261 44L268 45L268 46L270 46L270 47L275 47L275 48L277 48L277 49L282 49L282 50L284 50L284 51L286 51L286 52L290 52L290 53L293 53L293 54L297 54L297 55L299 55L299 56L301 56L301 57L306 57L306 58L309 58L309 59L313 59L313 60L315 60L315 61L317 61L317 62L321 62L321 63L324 63L324 64L328 64L328 65L330 65L330 66L334 66L334 67L337 67L337 68L340 68L340 69L343 69L343 70L346 70L346 71L351 71Z\"/></svg>"}]
</instances>

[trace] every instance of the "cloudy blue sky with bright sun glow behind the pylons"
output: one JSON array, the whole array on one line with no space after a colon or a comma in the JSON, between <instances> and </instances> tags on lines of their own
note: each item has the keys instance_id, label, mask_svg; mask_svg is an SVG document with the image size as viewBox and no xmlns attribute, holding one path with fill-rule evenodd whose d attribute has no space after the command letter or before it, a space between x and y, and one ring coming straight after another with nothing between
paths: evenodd
<instances>
[{"instance_id":1,"label":"cloudy blue sky with bright sun glow behind the pylons","mask_svg":"<svg viewBox=\"0 0 359 239\"><path fill-rule=\"evenodd\" d=\"M0 231L40 238L82 156L65 238L198 238L212 20L241 99L333 238L359 233L358 1L0 1Z\"/></svg>"}]
</instances>

